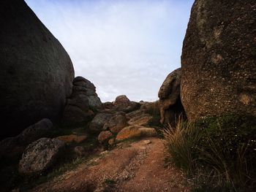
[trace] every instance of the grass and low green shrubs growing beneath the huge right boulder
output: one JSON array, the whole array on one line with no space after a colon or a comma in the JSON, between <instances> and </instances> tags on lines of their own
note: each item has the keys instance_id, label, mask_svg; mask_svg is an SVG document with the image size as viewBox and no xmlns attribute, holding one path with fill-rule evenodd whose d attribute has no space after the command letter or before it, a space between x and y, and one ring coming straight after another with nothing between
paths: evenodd
<instances>
[{"instance_id":1,"label":"grass and low green shrubs growing beneath the huge right boulder","mask_svg":"<svg viewBox=\"0 0 256 192\"><path fill-rule=\"evenodd\" d=\"M223 115L180 120L164 131L167 159L187 173L193 191L253 191L256 187L256 120Z\"/></svg>"}]
</instances>

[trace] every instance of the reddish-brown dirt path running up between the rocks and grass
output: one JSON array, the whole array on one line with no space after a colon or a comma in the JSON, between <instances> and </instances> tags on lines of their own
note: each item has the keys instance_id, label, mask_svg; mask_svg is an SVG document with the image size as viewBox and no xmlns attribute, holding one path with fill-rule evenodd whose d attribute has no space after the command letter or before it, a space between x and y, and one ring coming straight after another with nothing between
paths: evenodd
<instances>
[{"instance_id":1,"label":"reddish-brown dirt path running up between the rocks and grass","mask_svg":"<svg viewBox=\"0 0 256 192\"><path fill-rule=\"evenodd\" d=\"M189 191L181 172L166 167L164 158L161 139L123 143L33 191Z\"/></svg>"}]
</instances>

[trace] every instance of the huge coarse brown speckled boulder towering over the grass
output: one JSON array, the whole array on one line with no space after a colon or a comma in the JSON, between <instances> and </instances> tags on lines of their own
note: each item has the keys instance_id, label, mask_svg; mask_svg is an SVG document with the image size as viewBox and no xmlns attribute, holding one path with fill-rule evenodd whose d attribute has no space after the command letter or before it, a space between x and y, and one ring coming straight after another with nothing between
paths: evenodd
<instances>
[{"instance_id":1,"label":"huge coarse brown speckled boulder towering over the grass","mask_svg":"<svg viewBox=\"0 0 256 192\"><path fill-rule=\"evenodd\" d=\"M195 1L181 55L181 101L189 120L256 117L256 1Z\"/></svg>"}]
</instances>

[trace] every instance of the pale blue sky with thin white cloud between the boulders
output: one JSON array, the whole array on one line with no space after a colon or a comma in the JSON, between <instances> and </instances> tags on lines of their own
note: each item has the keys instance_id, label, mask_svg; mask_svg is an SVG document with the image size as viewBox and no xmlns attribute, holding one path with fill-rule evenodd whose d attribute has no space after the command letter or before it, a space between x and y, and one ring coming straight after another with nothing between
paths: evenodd
<instances>
[{"instance_id":1,"label":"pale blue sky with thin white cloud between the boulders","mask_svg":"<svg viewBox=\"0 0 256 192\"><path fill-rule=\"evenodd\" d=\"M181 66L193 0L25 0L102 101L156 101Z\"/></svg>"}]
</instances>

